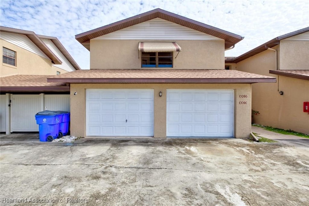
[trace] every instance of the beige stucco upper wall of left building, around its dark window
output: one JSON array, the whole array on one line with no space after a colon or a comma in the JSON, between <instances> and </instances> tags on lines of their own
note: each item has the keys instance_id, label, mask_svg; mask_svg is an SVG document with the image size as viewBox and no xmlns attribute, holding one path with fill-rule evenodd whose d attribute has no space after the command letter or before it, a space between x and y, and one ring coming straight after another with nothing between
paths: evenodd
<instances>
[{"instance_id":1,"label":"beige stucco upper wall of left building, around its dark window","mask_svg":"<svg viewBox=\"0 0 309 206\"><path fill-rule=\"evenodd\" d=\"M0 47L1 53L3 47L16 52L16 66L2 63L1 55L1 77L15 74L56 75L57 71L61 72L61 74L67 72L66 70L53 66L50 59L41 57L5 40L0 39Z\"/></svg>"}]
</instances>

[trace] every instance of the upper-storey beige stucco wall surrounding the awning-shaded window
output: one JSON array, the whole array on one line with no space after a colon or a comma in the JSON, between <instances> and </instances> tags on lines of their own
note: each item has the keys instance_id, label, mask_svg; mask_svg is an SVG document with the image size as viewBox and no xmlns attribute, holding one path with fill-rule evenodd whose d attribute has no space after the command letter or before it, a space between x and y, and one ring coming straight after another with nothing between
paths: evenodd
<instances>
[{"instance_id":1,"label":"upper-storey beige stucco wall surrounding the awning-shaded window","mask_svg":"<svg viewBox=\"0 0 309 206\"><path fill-rule=\"evenodd\" d=\"M144 40L90 40L91 69L138 69L138 42ZM158 40L146 40L158 41ZM176 41L176 40L175 40ZM224 69L224 41L177 40L182 51L174 52L175 69Z\"/></svg>"}]
</instances>

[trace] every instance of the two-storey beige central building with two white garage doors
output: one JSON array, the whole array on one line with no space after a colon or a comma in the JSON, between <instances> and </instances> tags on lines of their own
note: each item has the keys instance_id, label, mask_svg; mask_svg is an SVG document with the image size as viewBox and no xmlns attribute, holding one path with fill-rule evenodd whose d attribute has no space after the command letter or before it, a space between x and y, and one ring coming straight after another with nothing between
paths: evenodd
<instances>
[{"instance_id":1,"label":"two-storey beige central building with two white garage doors","mask_svg":"<svg viewBox=\"0 0 309 206\"><path fill-rule=\"evenodd\" d=\"M225 70L243 37L155 9L79 35L90 70L70 84L74 136L248 137L251 84L276 78Z\"/></svg>"}]
</instances>

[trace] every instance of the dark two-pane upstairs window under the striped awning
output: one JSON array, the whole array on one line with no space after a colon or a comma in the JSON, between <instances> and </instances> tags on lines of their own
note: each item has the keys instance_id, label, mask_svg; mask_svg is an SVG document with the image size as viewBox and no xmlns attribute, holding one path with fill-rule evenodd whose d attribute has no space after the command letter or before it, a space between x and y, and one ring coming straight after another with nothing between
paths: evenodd
<instances>
[{"instance_id":1,"label":"dark two-pane upstairs window under the striped awning","mask_svg":"<svg viewBox=\"0 0 309 206\"><path fill-rule=\"evenodd\" d=\"M173 67L173 52L142 52L142 67Z\"/></svg>"}]
</instances>

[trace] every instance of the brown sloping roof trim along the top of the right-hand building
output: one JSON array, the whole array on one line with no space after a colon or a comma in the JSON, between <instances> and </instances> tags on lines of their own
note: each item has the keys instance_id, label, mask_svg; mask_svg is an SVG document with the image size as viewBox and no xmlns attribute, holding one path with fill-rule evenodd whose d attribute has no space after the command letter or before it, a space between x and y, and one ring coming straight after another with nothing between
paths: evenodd
<instances>
[{"instance_id":1,"label":"brown sloping roof trim along the top of the right-hand building","mask_svg":"<svg viewBox=\"0 0 309 206\"><path fill-rule=\"evenodd\" d=\"M284 40L284 39L287 39L287 38L290 38L292 36L296 36L298 34L302 34L302 33L308 32L308 31L309 31L309 27L306 27L306 28L297 30L295 32L290 32L288 34L278 36L278 37L276 37L276 38L274 38L274 39L272 39L272 40L270 40L270 41L268 41L268 42L266 42L266 43L264 43L264 44L262 44L262 45L260 45L256 48L254 48L254 49L252 49L252 50L250 50L250 51L248 51L248 52L246 52L246 53L244 53L244 54L242 54L238 57L235 57L233 59L226 59L225 63L238 63L239 61L243 61L243 60L245 60L249 57L252 57L252 56L254 56L258 53L261 53L261 52L267 50L265 48L265 46L272 48L272 47L276 46L277 44L279 44L281 40Z\"/></svg>"}]
</instances>

